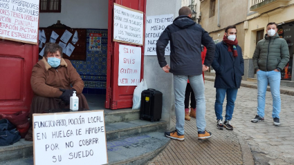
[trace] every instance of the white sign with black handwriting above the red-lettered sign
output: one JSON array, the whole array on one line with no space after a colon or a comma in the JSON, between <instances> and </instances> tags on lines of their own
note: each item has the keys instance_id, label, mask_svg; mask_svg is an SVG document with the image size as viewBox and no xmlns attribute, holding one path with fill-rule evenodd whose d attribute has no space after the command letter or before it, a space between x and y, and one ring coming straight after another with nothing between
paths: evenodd
<instances>
[{"instance_id":1,"label":"white sign with black handwriting above the red-lettered sign","mask_svg":"<svg viewBox=\"0 0 294 165\"><path fill-rule=\"evenodd\" d=\"M143 12L114 3L113 41L143 45Z\"/></svg>"}]
</instances>

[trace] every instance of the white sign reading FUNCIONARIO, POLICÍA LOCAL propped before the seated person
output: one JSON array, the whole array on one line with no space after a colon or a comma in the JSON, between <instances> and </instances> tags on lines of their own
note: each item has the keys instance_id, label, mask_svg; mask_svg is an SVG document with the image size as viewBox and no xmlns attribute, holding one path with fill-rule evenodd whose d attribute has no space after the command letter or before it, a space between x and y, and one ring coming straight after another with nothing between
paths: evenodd
<instances>
[{"instance_id":1,"label":"white sign reading FUNCIONARIO, POLIC\u00cdA LOCAL propped before the seated person","mask_svg":"<svg viewBox=\"0 0 294 165\"><path fill-rule=\"evenodd\" d=\"M103 110L33 114L35 165L107 164Z\"/></svg>"}]
</instances>

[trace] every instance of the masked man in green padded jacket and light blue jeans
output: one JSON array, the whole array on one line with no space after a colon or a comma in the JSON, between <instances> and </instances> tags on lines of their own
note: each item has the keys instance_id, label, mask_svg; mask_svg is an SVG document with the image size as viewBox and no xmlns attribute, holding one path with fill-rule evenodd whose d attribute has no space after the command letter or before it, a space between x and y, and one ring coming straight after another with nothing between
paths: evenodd
<instances>
[{"instance_id":1,"label":"masked man in green padded jacket and light blue jeans","mask_svg":"<svg viewBox=\"0 0 294 165\"><path fill-rule=\"evenodd\" d=\"M253 123L264 121L264 106L266 104L266 88L270 84L273 96L273 124L279 126L279 112L281 111L281 98L279 85L281 71L289 61L288 44L285 39L279 38L277 24L270 22L266 26L266 36L257 43L253 65L257 70L257 115L251 120Z\"/></svg>"}]
</instances>

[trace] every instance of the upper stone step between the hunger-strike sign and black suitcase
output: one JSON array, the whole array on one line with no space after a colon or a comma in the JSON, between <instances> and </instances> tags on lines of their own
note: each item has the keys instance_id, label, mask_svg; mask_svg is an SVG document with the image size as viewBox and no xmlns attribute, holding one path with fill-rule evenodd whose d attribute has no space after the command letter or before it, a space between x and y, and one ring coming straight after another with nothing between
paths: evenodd
<instances>
[{"instance_id":1,"label":"upper stone step between the hunger-strike sign and black suitcase","mask_svg":"<svg viewBox=\"0 0 294 165\"><path fill-rule=\"evenodd\" d=\"M105 124L116 122L129 122L139 119L140 110L120 109L120 110L104 110Z\"/></svg>"}]
</instances>

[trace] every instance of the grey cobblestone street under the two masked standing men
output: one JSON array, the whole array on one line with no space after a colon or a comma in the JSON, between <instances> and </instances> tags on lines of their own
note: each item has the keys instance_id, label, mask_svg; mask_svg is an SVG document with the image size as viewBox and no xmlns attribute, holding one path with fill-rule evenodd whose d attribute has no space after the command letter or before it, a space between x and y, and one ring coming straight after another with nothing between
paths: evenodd
<instances>
[{"instance_id":1,"label":"grey cobblestone street under the two masked standing men","mask_svg":"<svg viewBox=\"0 0 294 165\"><path fill-rule=\"evenodd\" d=\"M215 117L213 85L214 82L205 81L206 117ZM281 126L273 126L273 99L270 92L266 92L265 121L252 123L251 119L257 115L257 89L241 87L238 91L232 117L233 131L248 143L255 164L294 164L294 96L281 95L281 100ZM226 102L223 107L224 117Z\"/></svg>"}]
</instances>

